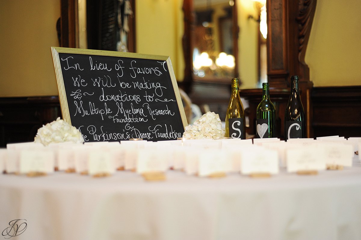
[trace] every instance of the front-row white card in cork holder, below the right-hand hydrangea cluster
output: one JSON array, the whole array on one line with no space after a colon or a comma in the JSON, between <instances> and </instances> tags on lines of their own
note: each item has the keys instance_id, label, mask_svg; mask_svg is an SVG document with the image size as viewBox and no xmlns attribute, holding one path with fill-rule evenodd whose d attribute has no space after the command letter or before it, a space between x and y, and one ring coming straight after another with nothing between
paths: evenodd
<instances>
[{"instance_id":1,"label":"front-row white card in cork holder, below the right-hand hydrangea cluster","mask_svg":"<svg viewBox=\"0 0 361 240\"><path fill-rule=\"evenodd\" d=\"M198 176L225 176L231 169L226 151L208 150L199 155Z\"/></svg>"}]
</instances>

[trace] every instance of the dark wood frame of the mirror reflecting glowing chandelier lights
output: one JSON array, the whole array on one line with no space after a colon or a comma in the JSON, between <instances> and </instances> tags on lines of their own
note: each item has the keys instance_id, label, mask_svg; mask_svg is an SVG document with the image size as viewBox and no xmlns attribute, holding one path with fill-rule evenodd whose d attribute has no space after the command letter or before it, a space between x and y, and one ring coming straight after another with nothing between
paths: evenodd
<instances>
[{"instance_id":1,"label":"dark wood frame of the mirror reflecting glowing chandelier lights","mask_svg":"<svg viewBox=\"0 0 361 240\"><path fill-rule=\"evenodd\" d=\"M204 82L204 83L217 83L217 84L230 84L230 79L219 79L219 80L210 80L207 78L197 79L193 77L193 46L192 46L192 26L194 26L195 15L193 8L193 0L183 0L183 14L184 14L184 35L182 38L183 46L183 56L184 56L184 79L179 85L182 86L184 91L189 93L192 89L193 82ZM237 1L234 1L234 6L232 7L232 47L235 57L235 70L234 75L238 76L238 18L237 18Z\"/></svg>"}]
</instances>

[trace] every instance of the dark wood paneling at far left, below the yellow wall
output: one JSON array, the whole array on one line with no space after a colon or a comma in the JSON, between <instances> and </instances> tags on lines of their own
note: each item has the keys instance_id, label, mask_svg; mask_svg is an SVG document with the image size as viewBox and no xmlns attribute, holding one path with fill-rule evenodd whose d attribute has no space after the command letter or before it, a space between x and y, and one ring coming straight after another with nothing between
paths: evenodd
<instances>
[{"instance_id":1,"label":"dark wood paneling at far left, below the yellow wall","mask_svg":"<svg viewBox=\"0 0 361 240\"><path fill-rule=\"evenodd\" d=\"M38 129L57 117L61 117L57 96L0 97L0 147L34 141Z\"/></svg>"}]
</instances>

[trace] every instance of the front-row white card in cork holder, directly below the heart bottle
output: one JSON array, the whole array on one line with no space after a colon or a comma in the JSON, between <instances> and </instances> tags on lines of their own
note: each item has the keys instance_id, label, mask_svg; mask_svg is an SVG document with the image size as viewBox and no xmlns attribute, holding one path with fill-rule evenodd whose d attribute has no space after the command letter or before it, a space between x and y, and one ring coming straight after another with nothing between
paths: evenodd
<instances>
[{"instance_id":1,"label":"front-row white card in cork holder, directly below the heart bottle","mask_svg":"<svg viewBox=\"0 0 361 240\"><path fill-rule=\"evenodd\" d=\"M242 174L278 174L278 153L266 148L252 148L242 152Z\"/></svg>"}]
</instances>

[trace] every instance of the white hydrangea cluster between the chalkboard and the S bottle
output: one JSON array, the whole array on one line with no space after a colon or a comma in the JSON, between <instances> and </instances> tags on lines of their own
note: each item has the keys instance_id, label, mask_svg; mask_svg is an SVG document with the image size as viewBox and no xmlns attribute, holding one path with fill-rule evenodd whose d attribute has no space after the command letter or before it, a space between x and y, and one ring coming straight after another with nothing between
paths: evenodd
<instances>
[{"instance_id":1,"label":"white hydrangea cluster between the chalkboard and the S bottle","mask_svg":"<svg viewBox=\"0 0 361 240\"><path fill-rule=\"evenodd\" d=\"M225 136L219 115L207 112L202 115L193 125L185 128L183 138L189 139L221 139Z\"/></svg>"}]
</instances>

